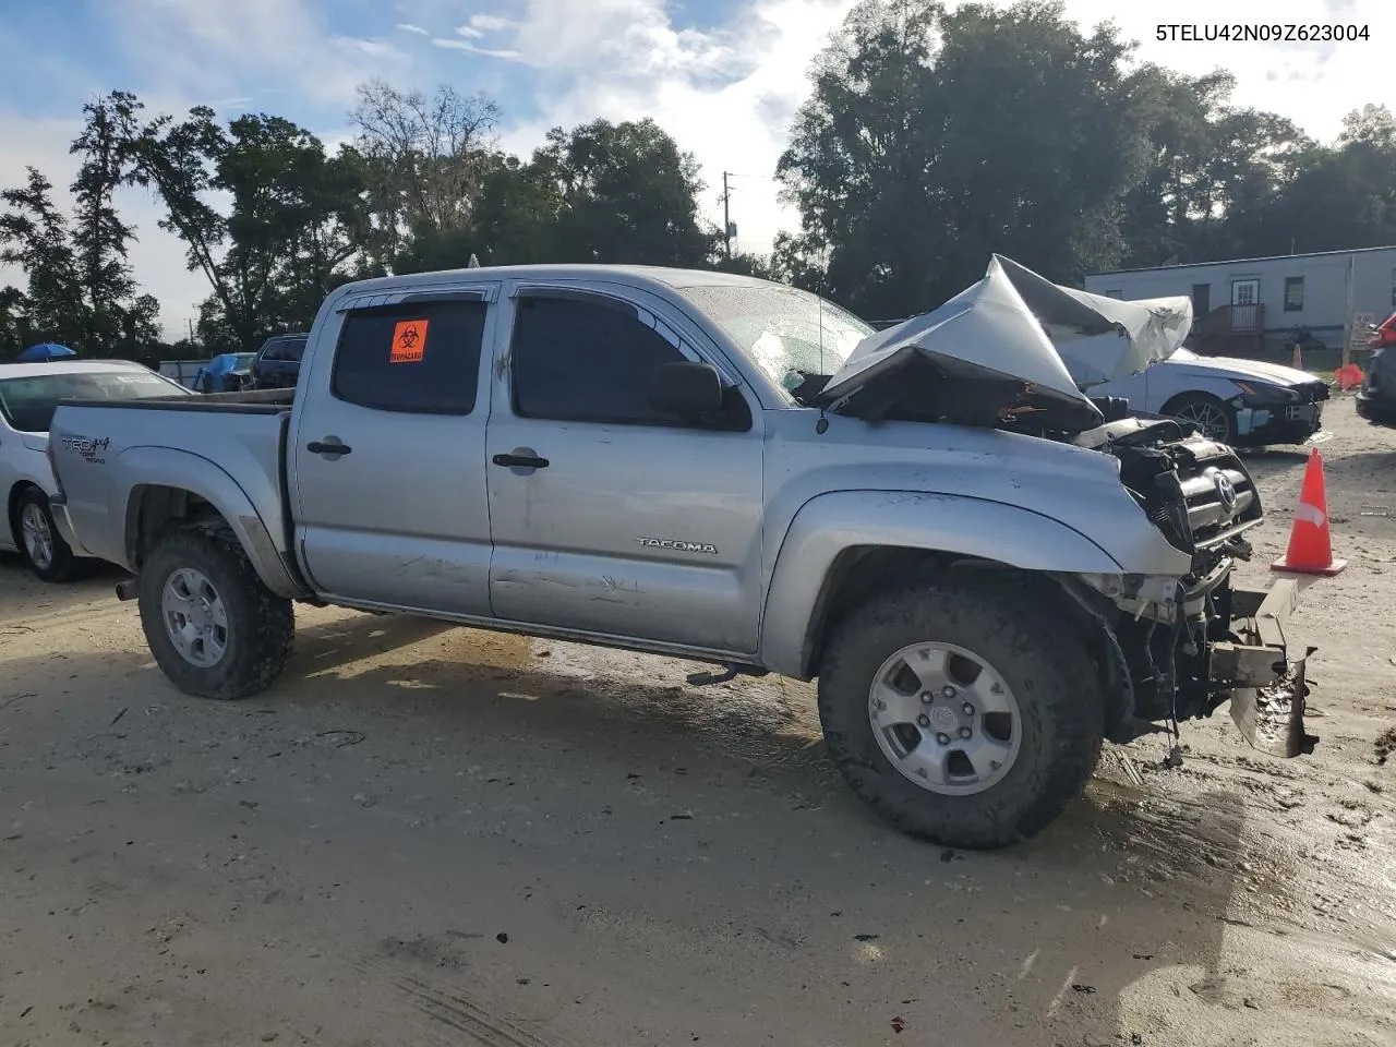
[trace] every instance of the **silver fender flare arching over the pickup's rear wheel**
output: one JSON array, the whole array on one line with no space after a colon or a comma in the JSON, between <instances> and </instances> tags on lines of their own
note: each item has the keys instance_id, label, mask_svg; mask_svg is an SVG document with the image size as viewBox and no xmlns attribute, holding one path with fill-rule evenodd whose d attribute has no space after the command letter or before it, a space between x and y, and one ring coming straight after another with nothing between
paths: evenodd
<instances>
[{"instance_id":1,"label":"silver fender flare arching over the pickup's rear wheel","mask_svg":"<svg viewBox=\"0 0 1396 1047\"><path fill-rule=\"evenodd\" d=\"M147 487L172 487L197 494L228 521L262 584L278 596L297 597L302 586L290 574L276 539L242 484L216 462L190 451L134 447L121 454L128 483L123 549L127 567L140 565L141 504Z\"/></svg>"}]
</instances>

